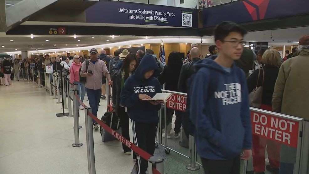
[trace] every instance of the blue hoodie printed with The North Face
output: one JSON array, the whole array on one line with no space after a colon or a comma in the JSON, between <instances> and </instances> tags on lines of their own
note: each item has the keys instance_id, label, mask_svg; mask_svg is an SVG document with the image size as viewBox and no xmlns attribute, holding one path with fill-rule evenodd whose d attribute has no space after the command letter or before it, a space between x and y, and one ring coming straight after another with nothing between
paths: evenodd
<instances>
[{"instance_id":1,"label":"blue hoodie printed with The North Face","mask_svg":"<svg viewBox=\"0 0 309 174\"><path fill-rule=\"evenodd\" d=\"M245 74L235 64L227 72L212 59L195 68L188 96L197 152L211 160L233 159L252 146Z\"/></svg>"}]
</instances>

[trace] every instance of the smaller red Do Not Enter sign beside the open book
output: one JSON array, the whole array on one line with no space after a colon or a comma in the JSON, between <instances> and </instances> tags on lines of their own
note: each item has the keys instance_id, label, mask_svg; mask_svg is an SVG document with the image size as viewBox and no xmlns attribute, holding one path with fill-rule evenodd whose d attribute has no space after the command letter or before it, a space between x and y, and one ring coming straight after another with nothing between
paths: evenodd
<instances>
[{"instance_id":1,"label":"smaller red Do Not Enter sign beside the open book","mask_svg":"<svg viewBox=\"0 0 309 174\"><path fill-rule=\"evenodd\" d=\"M170 98L167 99L166 107L185 112L187 107L187 97L179 94L172 94Z\"/></svg>"}]
</instances>

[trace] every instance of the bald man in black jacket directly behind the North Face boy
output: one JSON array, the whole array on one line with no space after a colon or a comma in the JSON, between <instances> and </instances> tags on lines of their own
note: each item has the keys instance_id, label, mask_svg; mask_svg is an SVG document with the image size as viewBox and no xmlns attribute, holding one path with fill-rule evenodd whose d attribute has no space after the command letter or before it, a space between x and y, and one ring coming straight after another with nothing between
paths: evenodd
<instances>
[{"instance_id":1,"label":"bald man in black jacket directly behind the North Face boy","mask_svg":"<svg viewBox=\"0 0 309 174\"><path fill-rule=\"evenodd\" d=\"M196 64L197 61L201 60L201 53L200 50L197 47L193 47L190 50L190 57L191 61L183 64L180 71L179 81L178 81L178 91L187 93L187 81L194 73L193 65ZM189 118L189 115L186 113L183 113L182 115L182 128L185 131L186 137L189 137L189 134L194 134L193 124L191 123L191 120ZM179 143L179 145L183 147L189 147L188 141L182 141Z\"/></svg>"}]
</instances>

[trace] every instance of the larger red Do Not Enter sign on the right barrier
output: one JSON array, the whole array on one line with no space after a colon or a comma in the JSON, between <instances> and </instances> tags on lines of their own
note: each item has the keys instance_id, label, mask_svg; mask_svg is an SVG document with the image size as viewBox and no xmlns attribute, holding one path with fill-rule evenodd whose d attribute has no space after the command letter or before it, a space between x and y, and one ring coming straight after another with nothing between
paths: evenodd
<instances>
[{"instance_id":1,"label":"larger red Do Not Enter sign on the right barrier","mask_svg":"<svg viewBox=\"0 0 309 174\"><path fill-rule=\"evenodd\" d=\"M252 134L297 148L297 121L251 111Z\"/></svg>"}]
</instances>

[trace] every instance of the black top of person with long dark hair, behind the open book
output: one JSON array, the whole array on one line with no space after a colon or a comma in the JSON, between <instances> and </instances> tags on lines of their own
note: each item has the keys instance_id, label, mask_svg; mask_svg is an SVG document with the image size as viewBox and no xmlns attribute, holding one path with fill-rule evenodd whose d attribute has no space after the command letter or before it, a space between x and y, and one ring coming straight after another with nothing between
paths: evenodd
<instances>
[{"instance_id":1,"label":"black top of person with long dark hair, behind the open book","mask_svg":"<svg viewBox=\"0 0 309 174\"><path fill-rule=\"evenodd\" d=\"M170 91L178 91L178 80L180 75L180 68L172 69L169 66L165 66L162 74L158 77L161 85L165 83L165 89Z\"/></svg>"}]
</instances>

